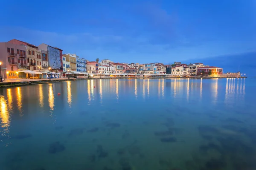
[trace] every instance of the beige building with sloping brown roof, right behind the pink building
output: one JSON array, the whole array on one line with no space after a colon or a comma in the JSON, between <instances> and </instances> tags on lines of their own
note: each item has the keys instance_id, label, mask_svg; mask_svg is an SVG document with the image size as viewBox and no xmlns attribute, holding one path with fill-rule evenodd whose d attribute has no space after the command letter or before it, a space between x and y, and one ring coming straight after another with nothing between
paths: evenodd
<instances>
[{"instance_id":1,"label":"beige building with sloping brown roof, right behind the pink building","mask_svg":"<svg viewBox=\"0 0 256 170\"><path fill-rule=\"evenodd\" d=\"M42 67L42 59L41 51L38 49L37 46L16 39L12 39L8 42L16 45L25 46L27 63L29 63L29 70L40 70L40 68ZM17 55L19 54L20 51L17 50ZM20 63L19 65L21 65L20 59L17 59L17 63Z\"/></svg>"}]
</instances>

